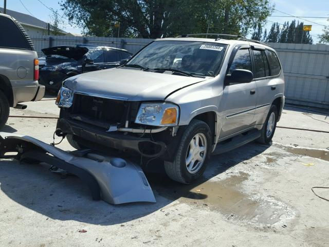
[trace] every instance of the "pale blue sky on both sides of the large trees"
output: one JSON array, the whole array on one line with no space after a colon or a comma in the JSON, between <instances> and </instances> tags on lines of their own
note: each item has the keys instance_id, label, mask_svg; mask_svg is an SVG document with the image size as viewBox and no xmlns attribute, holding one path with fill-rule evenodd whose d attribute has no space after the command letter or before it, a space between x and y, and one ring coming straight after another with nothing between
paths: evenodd
<instances>
[{"instance_id":1,"label":"pale blue sky on both sides of the large trees","mask_svg":"<svg viewBox=\"0 0 329 247\"><path fill-rule=\"evenodd\" d=\"M61 0L7 0L7 9L25 14L32 14L44 22L50 22L51 10L46 8L44 5L54 10L58 10L59 14L63 15L59 1ZM294 16L329 17L329 0L272 0L271 2L272 4L275 4L276 9L272 15L289 16L287 14L290 14ZM22 3L25 5L25 7ZM4 0L0 0L0 7L4 7ZM279 11L285 12L287 14L281 13ZM266 28L267 31L269 31L272 25L271 22L278 22L283 24L286 21L291 22L294 19L296 19L296 21L299 20L304 22L304 25L312 25L312 31L310 31L310 35L312 35L312 38L315 41L314 43L317 43L317 37L322 33L323 26L321 25L329 25L327 19L305 17L303 19L306 19L307 21L304 21L294 17L270 16L268 17L268 22L263 29ZM61 29L67 32L81 33L81 28L70 25L67 20L64 20L64 22L64 25L60 26Z\"/></svg>"}]
</instances>

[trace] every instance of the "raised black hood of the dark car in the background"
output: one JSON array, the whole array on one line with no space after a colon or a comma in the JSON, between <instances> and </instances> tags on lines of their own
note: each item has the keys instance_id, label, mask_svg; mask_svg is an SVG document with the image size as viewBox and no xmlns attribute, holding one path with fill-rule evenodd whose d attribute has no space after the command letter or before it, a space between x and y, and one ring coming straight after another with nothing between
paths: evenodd
<instances>
[{"instance_id":1,"label":"raised black hood of the dark car in the background","mask_svg":"<svg viewBox=\"0 0 329 247\"><path fill-rule=\"evenodd\" d=\"M67 58L79 60L88 52L88 48L81 46L54 46L42 49L42 52L46 56L50 55L60 55Z\"/></svg>"}]
</instances>

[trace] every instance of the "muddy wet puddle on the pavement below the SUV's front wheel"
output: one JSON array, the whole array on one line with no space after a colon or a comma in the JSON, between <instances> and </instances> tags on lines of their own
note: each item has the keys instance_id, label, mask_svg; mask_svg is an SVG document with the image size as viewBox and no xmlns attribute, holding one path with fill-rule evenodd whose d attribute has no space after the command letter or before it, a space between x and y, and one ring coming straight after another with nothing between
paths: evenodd
<instances>
[{"instance_id":1,"label":"muddy wet puddle on the pavement below the SUV's front wheel","mask_svg":"<svg viewBox=\"0 0 329 247\"><path fill-rule=\"evenodd\" d=\"M151 186L162 197L178 200L180 203L196 204L210 210L219 211L228 220L235 222L257 222L274 224L287 213L286 208L276 201L251 199L247 193L239 190L249 175L240 172L237 175L218 180L205 181L198 185L182 185L175 182L161 181L148 176ZM163 186L166 184L166 186Z\"/></svg>"}]
</instances>

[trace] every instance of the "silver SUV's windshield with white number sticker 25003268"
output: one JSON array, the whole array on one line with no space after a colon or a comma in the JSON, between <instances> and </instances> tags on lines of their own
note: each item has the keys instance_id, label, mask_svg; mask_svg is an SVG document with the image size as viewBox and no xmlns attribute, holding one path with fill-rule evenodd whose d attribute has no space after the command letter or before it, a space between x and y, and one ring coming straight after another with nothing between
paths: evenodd
<instances>
[{"instance_id":1,"label":"silver SUV's windshield with white number sticker 25003268","mask_svg":"<svg viewBox=\"0 0 329 247\"><path fill-rule=\"evenodd\" d=\"M195 41L155 41L141 50L127 65L149 69L179 69L192 75L215 76L227 45Z\"/></svg>"}]
</instances>

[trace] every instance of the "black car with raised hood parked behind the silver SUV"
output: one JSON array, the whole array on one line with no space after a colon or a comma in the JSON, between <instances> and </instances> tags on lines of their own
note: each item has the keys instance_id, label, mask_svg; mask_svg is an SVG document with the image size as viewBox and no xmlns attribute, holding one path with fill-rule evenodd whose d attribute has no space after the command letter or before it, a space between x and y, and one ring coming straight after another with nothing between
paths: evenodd
<instances>
[{"instance_id":1,"label":"black car with raised hood parked behind the silver SUV","mask_svg":"<svg viewBox=\"0 0 329 247\"><path fill-rule=\"evenodd\" d=\"M122 60L132 57L124 49L87 44L49 47L42 49L42 52L45 57L39 58L39 83L53 91L58 91L68 77L114 68Z\"/></svg>"}]
</instances>

